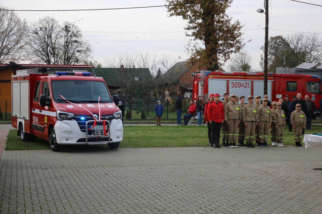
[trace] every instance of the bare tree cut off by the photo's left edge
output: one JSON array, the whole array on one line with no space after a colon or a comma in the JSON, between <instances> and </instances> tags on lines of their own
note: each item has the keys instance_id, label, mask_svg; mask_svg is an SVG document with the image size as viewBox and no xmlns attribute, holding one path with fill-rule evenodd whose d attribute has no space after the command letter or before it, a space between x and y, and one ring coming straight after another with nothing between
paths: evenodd
<instances>
[{"instance_id":1,"label":"bare tree cut off by the photo's left edge","mask_svg":"<svg viewBox=\"0 0 322 214\"><path fill-rule=\"evenodd\" d=\"M0 63L24 59L28 25L14 11L0 5Z\"/></svg>"}]
</instances>

